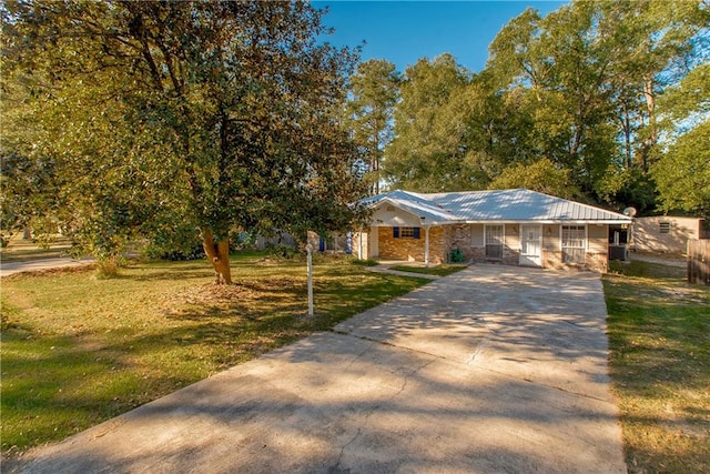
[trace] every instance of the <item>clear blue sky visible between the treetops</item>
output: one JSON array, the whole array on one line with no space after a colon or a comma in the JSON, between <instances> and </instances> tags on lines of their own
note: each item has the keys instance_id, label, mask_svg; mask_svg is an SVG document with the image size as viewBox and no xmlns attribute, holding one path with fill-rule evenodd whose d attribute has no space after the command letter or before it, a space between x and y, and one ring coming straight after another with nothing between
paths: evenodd
<instances>
[{"instance_id":1,"label":"clear blue sky visible between the treetops","mask_svg":"<svg viewBox=\"0 0 710 474\"><path fill-rule=\"evenodd\" d=\"M335 34L327 41L356 47L363 60L386 59L400 72L420 58L452 53L473 72L488 59L498 31L527 7L547 14L564 1L314 1L329 7L324 18Z\"/></svg>"}]
</instances>

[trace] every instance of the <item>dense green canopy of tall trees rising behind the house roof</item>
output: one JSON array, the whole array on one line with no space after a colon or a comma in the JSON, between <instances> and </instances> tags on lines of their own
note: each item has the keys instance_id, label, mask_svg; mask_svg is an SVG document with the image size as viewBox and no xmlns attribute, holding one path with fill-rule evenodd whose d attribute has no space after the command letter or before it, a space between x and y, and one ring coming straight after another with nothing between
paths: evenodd
<instances>
[{"instance_id":1,"label":"dense green canopy of tall trees rising behind the house roof","mask_svg":"<svg viewBox=\"0 0 710 474\"><path fill-rule=\"evenodd\" d=\"M384 173L415 191L525 185L707 213L708 24L692 0L528 9L480 72L450 54L404 71Z\"/></svg>"}]
</instances>

